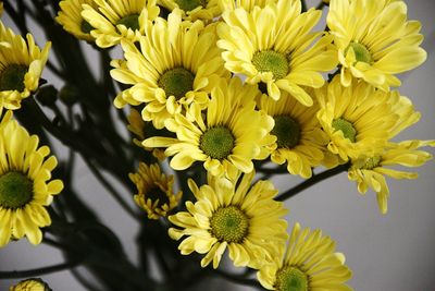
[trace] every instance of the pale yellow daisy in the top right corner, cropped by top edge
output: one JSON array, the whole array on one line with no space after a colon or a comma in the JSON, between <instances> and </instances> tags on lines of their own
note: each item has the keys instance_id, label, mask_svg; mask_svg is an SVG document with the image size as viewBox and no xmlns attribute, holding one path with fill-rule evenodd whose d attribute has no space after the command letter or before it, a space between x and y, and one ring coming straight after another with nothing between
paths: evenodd
<instances>
[{"instance_id":1,"label":"pale yellow daisy in the top right corner, cropped by top edge","mask_svg":"<svg viewBox=\"0 0 435 291\"><path fill-rule=\"evenodd\" d=\"M341 64L341 83L352 76L389 90L400 86L395 74L423 63L421 24L407 20L403 1L332 0L327 26L334 36Z\"/></svg>"}]
</instances>

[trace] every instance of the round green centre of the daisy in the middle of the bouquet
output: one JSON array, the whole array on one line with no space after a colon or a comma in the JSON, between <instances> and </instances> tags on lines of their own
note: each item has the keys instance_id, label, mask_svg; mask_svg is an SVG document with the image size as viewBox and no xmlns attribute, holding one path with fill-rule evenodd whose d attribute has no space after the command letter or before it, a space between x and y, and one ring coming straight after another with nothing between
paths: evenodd
<instances>
[{"instance_id":1,"label":"round green centre of the daisy in the middle of the bouquet","mask_svg":"<svg viewBox=\"0 0 435 291\"><path fill-rule=\"evenodd\" d=\"M213 159L226 158L234 148L234 136L225 126L208 129L201 136L200 148Z\"/></svg>"}]
</instances>

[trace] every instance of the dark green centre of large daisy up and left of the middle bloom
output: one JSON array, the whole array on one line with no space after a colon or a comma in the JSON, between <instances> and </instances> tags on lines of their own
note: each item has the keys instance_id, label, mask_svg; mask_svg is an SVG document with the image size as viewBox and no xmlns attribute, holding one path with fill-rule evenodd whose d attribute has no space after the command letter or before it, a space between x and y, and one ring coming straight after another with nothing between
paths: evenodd
<instances>
[{"instance_id":1,"label":"dark green centre of large daisy up and left of the middle bloom","mask_svg":"<svg viewBox=\"0 0 435 291\"><path fill-rule=\"evenodd\" d=\"M158 84L164 89L167 97L175 96L179 99L194 89L194 80L195 75L190 71L184 68L175 68L164 72Z\"/></svg>"}]
</instances>

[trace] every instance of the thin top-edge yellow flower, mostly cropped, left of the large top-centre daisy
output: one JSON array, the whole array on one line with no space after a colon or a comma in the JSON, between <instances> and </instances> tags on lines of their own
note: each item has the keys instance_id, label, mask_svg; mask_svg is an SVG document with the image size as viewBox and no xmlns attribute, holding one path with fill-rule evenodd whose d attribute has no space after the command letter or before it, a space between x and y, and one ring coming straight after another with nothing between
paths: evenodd
<instances>
[{"instance_id":1,"label":"thin top-edge yellow flower, mostly cropped, left of the large top-centre daisy","mask_svg":"<svg viewBox=\"0 0 435 291\"><path fill-rule=\"evenodd\" d=\"M219 0L158 0L158 3L170 12L179 9L184 20L211 21L221 14Z\"/></svg>"}]
</instances>

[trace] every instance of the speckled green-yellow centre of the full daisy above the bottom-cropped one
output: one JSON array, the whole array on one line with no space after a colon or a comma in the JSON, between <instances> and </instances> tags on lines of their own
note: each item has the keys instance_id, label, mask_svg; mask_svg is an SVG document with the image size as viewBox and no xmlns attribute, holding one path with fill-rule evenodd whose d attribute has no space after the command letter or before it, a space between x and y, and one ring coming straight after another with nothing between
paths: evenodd
<instances>
[{"instance_id":1,"label":"speckled green-yellow centre of the full daisy above the bottom-cropped one","mask_svg":"<svg viewBox=\"0 0 435 291\"><path fill-rule=\"evenodd\" d=\"M219 208L210 219L211 233L220 241L241 243L248 234L249 219L236 206Z\"/></svg>"}]
</instances>

